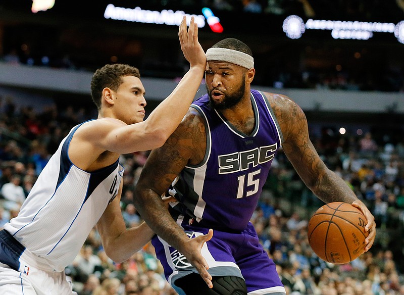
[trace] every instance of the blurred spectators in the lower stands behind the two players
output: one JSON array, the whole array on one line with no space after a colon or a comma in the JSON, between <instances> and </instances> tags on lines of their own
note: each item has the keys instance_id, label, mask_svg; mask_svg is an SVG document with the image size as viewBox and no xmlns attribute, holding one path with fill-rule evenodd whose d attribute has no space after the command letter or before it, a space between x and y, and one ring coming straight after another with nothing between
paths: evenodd
<instances>
[{"instance_id":1,"label":"blurred spectators in the lower stands behind the two players","mask_svg":"<svg viewBox=\"0 0 404 295\"><path fill-rule=\"evenodd\" d=\"M0 100L0 227L18 214L38 173L70 129L94 113L73 106L41 112ZM95 107L94 107L95 109ZM404 136L398 136L404 139ZM404 141L377 142L364 135L312 138L330 169L371 209L377 234L370 251L351 263L319 259L307 238L310 215L323 205L299 180L284 154L273 163L251 221L277 265L288 295L404 295ZM141 217L133 188L147 152L122 156L121 206L128 227ZM94 228L66 273L79 295L175 295L162 274L153 245L115 264Z\"/></svg>"}]
</instances>

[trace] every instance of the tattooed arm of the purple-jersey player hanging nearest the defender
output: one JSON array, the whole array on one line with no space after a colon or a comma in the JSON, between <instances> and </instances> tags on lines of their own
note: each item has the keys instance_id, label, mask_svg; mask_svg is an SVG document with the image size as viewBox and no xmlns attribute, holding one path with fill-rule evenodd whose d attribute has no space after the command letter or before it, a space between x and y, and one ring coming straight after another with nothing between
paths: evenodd
<instances>
[{"instance_id":1,"label":"tattooed arm of the purple-jersey player hanging nearest the defender","mask_svg":"<svg viewBox=\"0 0 404 295\"><path fill-rule=\"evenodd\" d=\"M147 225L198 270L209 287L212 276L208 264L200 254L203 244L212 238L213 231L192 239L177 225L164 206L161 195L175 177L189 164L198 164L205 155L206 134L198 113L190 108L181 124L166 143L152 151L136 184L134 203Z\"/></svg>"}]
</instances>

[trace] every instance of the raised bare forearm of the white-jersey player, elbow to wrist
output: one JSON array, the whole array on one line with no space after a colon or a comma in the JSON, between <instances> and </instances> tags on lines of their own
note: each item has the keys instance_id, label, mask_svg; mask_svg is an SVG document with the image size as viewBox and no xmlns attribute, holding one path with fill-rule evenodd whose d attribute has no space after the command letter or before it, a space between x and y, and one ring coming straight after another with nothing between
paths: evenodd
<instances>
[{"instance_id":1,"label":"raised bare forearm of the white-jersey player, elbow to wrist","mask_svg":"<svg viewBox=\"0 0 404 295\"><path fill-rule=\"evenodd\" d=\"M145 132L161 133L164 143L188 111L204 73L205 68L201 65L191 67L173 92L151 112L146 120Z\"/></svg>"}]
</instances>

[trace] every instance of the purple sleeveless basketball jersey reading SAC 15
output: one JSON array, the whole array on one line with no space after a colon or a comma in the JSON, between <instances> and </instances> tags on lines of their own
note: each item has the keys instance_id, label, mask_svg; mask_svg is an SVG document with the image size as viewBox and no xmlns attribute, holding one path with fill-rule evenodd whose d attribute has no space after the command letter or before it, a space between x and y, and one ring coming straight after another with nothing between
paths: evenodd
<instances>
[{"instance_id":1,"label":"purple sleeveless basketball jersey reading SAC 15","mask_svg":"<svg viewBox=\"0 0 404 295\"><path fill-rule=\"evenodd\" d=\"M193 218L201 227L242 231L257 207L282 134L261 92L251 90L251 104L256 124L249 135L212 109L208 94L192 104L205 118L206 155L203 163L183 169L170 194L181 203L174 207L177 213ZM176 218L175 211L171 212Z\"/></svg>"}]
</instances>

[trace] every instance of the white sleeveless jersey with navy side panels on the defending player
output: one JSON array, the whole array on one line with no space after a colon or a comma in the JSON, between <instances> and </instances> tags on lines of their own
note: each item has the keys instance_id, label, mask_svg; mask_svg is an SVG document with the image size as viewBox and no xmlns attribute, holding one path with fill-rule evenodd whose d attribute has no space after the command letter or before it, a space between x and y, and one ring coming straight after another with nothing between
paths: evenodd
<instances>
[{"instance_id":1,"label":"white sleeveless jersey with navy side panels on the defending player","mask_svg":"<svg viewBox=\"0 0 404 295\"><path fill-rule=\"evenodd\" d=\"M82 123L84 124L84 123ZM115 198L124 168L119 160L94 172L74 166L68 149L77 125L40 173L20 213L4 228L56 271L79 253L91 229Z\"/></svg>"}]
</instances>

